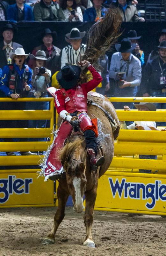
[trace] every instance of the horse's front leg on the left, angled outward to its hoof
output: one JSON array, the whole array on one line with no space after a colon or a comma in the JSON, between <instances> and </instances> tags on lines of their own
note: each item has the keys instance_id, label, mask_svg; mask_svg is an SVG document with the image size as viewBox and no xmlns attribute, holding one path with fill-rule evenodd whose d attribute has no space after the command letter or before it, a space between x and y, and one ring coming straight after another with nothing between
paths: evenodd
<instances>
[{"instance_id":1,"label":"horse's front leg on the left, angled outward to its hoof","mask_svg":"<svg viewBox=\"0 0 166 256\"><path fill-rule=\"evenodd\" d=\"M46 238L44 238L43 244L54 244L55 233L65 216L65 205L68 200L69 193L67 193L61 187L61 184L59 184L57 189L57 197L58 197L58 208L54 216L54 226L51 230L51 233Z\"/></svg>"}]
</instances>

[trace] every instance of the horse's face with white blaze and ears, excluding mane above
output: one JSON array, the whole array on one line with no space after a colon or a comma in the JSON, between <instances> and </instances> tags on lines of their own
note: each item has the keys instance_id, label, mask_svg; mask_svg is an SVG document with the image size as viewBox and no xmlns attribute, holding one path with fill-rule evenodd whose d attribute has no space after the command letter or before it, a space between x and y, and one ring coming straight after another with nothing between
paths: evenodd
<instances>
[{"instance_id":1,"label":"horse's face with white blaze and ears, excluding mane above","mask_svg":"<svg viewBox=\"0 0 166 256\"><path fill-rule=\"evenodd\" d=\"M69 193L73 199L74 210L76 212L82 212L84 209L83 195L87 183L85 177L85 164L73 159L69 163L65 162L63 167L66 170L66 180Z\"/></svg>"}]
</instances>

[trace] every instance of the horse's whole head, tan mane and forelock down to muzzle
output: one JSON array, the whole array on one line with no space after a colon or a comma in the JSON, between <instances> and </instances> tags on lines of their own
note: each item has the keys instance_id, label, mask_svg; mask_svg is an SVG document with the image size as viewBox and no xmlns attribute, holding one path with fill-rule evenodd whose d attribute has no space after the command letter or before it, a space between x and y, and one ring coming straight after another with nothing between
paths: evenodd
<instances>
[{"instance_id":1,"label":"horse's whole head, tan mane and forelock down to muzzle","mask_svg":"<svg viewBox=\"0 0 166 256\"><path fill-rule=\"evenodd\" d=\"M86 156L84 140L78 137L67 143L61 153L61 163L66 171L67 185L76 212L82 212L84 209L83 195L87 183L85 176Z\"/></svg>"}]
</instances>

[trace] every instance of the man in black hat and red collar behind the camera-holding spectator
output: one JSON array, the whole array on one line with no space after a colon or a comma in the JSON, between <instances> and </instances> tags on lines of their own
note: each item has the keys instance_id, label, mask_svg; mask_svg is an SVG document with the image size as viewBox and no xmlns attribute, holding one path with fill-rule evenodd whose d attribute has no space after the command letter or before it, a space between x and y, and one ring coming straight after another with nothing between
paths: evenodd
<instances>
[{"instance_id":1,"label":"man in black hat and red collar behind the camera-holding spectator","mask_svg":"<svg viewBox=\"0 0 166 256\"><path fill-rule=\"evenodd\" d=\"M39 35L39 39L43 42L40 46L33 49L32 54L36 55L37 51L44 51L46 53L46 58L51 57L51 60L46 62L46 68L51 70L51 74L53 75L56 71L60 70L60 53L61 50L54 46L54 42L56 39L56 32L49 28L45 28L44 32ZM29 60L28 65L30 68L33 68L33 60Z\"/></svg>"}]
</instances>

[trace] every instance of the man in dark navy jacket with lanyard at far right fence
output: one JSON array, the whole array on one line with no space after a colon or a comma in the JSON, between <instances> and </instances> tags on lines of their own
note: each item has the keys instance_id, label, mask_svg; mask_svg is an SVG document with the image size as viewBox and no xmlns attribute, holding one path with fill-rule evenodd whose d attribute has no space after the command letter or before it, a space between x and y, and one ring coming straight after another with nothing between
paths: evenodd
<instances>
[{"instance_id":1,"label":"man in dark navy jacket with lanyard at far right fence","mask_svg":"<svg viewBox=\"0 0 166 256\"><path fill-rule=\"evenodd\" d=\"M159 56L147 63L143 70L141 92L143 97L166 97L166 41L158 46ZM156 103L156 108L166 109L166 103ZM166 126L166 122L157 122Z\"/></svg>"}]
</instances>

